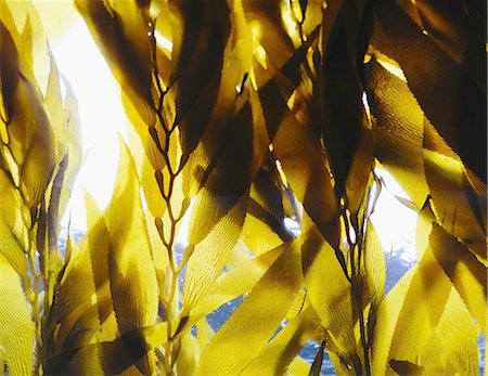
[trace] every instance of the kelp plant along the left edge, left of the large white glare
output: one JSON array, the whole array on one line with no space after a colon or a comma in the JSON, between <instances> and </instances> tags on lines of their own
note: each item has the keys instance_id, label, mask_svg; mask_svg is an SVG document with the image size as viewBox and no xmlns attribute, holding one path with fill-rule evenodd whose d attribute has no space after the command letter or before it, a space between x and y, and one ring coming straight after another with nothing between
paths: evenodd
<instances>
[{"instance_id":1,"label":"kelp plant along the left edge, left of the large white glare","mask_svg":"<svg viewBox=\"0 0 488 376\"><path fill-rule=\"evenodd\" d=\"M57 72L35 8L2 2L0 35L1 363L25 375L43 368L52 345L49 317L68 261L57 248L60 220L81 144L76 99ZM48 67L44 75L39 60Z\"/></svg>"}]
</instances>

